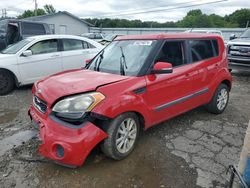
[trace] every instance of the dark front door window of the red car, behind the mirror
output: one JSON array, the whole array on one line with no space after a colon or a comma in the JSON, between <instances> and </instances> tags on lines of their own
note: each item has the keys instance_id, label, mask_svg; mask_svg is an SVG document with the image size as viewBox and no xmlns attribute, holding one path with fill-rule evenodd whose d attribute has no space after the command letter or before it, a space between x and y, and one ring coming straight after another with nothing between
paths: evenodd
<instances>
[{"instance_id":1,"label":"dark front door window of the red car, behind the mirror","mask_svg":"<svg viewBox=\"0 0 250 188\"><path fill-rule=\"evenodd\" d=\"M157 61L171 63L173 67L183 65L184 61L184 42L167 41L163 45Z\"/></svg>"}]
</instances>

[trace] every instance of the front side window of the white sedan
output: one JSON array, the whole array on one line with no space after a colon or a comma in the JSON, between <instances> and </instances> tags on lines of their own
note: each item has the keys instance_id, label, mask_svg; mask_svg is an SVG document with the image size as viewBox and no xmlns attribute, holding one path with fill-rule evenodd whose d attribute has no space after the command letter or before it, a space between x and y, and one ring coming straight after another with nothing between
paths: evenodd
<instances>
[{"instance_id":1,"label":"front side window of the white sedan","mask_svg":"<svg viewBox=\"0 0 250 188\"><path fill-rule=\"evenodd\" d=\"M57 52L57 40L52 39L37 42L31 46L29 50L31 50L34 55Z\"/></svg>"}]
</instances>

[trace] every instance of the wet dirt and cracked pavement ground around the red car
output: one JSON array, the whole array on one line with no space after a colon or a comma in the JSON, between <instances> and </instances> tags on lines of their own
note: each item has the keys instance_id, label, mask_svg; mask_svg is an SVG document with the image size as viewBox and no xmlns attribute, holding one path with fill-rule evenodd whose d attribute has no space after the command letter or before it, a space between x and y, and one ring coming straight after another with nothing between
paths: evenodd
<instances>
[{"instance_id":1,"label":"wet dirt and cracked pavement ground around the red car","mask_svg":"<svg viewBox=\"0 0 250 188\"><path fill-rule=\"evenodd\" d=\"M77 169L37 154L27 110L31 86L0 97L0 187L225 187L250 117L250 73L233 73L221 115L203 107L142 132L134 152L113 161L95 149Z\"/></svg>"}]
</instances>

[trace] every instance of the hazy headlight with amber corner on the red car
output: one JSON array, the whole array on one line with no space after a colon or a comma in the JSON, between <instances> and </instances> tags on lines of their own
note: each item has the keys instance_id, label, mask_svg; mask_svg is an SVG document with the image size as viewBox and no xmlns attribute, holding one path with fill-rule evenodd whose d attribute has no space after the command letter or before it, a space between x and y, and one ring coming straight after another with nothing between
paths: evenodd
<instances>
[{"instance_id":1,"label":"hazy headlight with amber corner on the red car","mask_svg":"<svg viewBox=\"0 0 250 188\"><path fill-rule=\"evenodd\" d=\"M52 111L59 117L79 119L103 99L105 96L99 92L75 95L57 102Z\"/></svg>"}]
</instances>

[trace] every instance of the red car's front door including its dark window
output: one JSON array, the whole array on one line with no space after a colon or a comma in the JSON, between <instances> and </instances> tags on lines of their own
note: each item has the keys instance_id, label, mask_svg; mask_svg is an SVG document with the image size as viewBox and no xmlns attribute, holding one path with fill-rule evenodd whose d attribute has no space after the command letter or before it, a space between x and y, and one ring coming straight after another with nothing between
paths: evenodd
<instances>
[{"instance_id":1,"label":"red car's front door including its dark window","mask_svg":"<svg viewBox=\"0 0 250 188\"><path fill-rule=\"evenodd\" d=\"M155 62L171 63L173 73L146 76L146 102L154 124L193 108L190 99L195 96L192 81L197 71L187 57L186 41L166 41Z\"/></svg>"}]
</instances>

